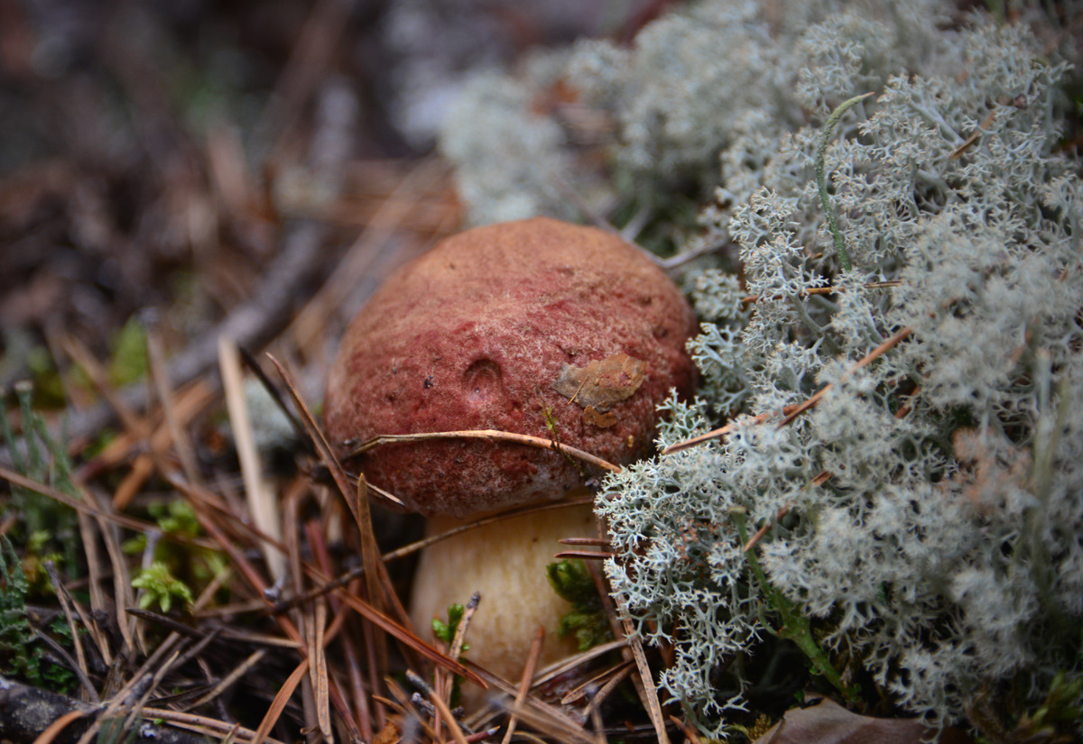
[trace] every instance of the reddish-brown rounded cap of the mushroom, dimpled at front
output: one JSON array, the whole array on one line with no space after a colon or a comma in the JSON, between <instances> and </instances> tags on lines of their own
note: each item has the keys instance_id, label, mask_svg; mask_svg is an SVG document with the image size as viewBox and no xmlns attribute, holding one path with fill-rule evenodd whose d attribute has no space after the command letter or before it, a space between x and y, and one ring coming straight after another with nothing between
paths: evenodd
<instances>
[{"instance_id":1,"label":"reddish-brown rounded cap of the mushroom, dimpled at front","mask_svg":"<svg viewBox=\"0 0 1083 744\"><path fill-rule=\"evenodd\" d=\"M691 391L693 331L673 281L609 232L547 217L474 228L392 275L350 324L328 378L327 427L339 443L500 429L629 463L650 451L669 389ZM598 375L574 368L622 354L642 364L634 380L610 368L628 383L615 401L588 410L590 395L553 387L563 371L592 389ZM362 457L369 482L408 508L459 518L560 499L590 475L550 450L477 439L383 444Z\"/></svg>"}]
</instances>

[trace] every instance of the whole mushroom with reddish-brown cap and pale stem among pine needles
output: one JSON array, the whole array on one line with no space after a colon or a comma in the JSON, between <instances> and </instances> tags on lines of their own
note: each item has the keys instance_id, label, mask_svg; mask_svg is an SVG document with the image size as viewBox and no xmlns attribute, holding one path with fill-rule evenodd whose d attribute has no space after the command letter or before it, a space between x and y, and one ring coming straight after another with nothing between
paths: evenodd
<instances>
[{"instance_id":1,"label":"whole mushroom with reddish-brown cap and pale stem among pine needles","mask_svg":"<svg viewBox=\"0 0 1083 744\"><path fill-rule=\"evenodd\" d=\"M327 427L338 442L500 429L629 463L650 451L669 390L691 389L692 331L677 287L614 235L544 217L474 228L399 270L351 323ZM591 475L566 453L459 438L384 444L361 467L432 518L430 532L562 500ZM438 543L421 556L412 617L426 627L480 590L469 656L518 679L538 624L551 632L567 611L546 585L557 540L595 535L587 504ZM542 663L569 650L550 638Z\"/></svg>"}]
</instances>

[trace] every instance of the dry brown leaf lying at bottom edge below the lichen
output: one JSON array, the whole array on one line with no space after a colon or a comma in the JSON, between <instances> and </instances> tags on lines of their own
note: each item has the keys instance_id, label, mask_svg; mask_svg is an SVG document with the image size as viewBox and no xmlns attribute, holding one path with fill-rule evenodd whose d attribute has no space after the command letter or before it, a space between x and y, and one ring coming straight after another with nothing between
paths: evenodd
<instances>
[{"instance_id":1,"label":"dry brown leaf lying at bottom edge below the lichen","mask_svg":"<svg viewBox=\"0 0 1083 744\"><path fill-rule=\"evenodd\" d=\"M936 732L916 718L872 718L850 713L824 698L807 708L792 708L755 744L923 744ZM960 729L944 729L940 744L973 744Z\"/></svg>"}]
</instances>

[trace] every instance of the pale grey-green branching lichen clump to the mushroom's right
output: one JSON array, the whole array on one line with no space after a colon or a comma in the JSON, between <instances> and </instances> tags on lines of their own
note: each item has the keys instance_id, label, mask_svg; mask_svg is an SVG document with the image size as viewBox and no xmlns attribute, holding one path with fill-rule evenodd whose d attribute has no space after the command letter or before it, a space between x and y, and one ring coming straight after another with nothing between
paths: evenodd
<instances>
[{"instance_id":1,"label":"pale grey-green branching lichen clump to the mushroom's right","mask_svg":"<svg viewBox=\"0 0 1083 744\"><path fill-rule=\"evenodd\" d=\"M791 4L771 17L702 3L569 62L570 84L612 117L612 172L635 174L596 203L715 186L683 247L732 236L744 271L743 285L717 268L684 277L703 384L664 407L658 447L733 428L605 482L614 596L671 645L661 685L717 735L755 682L733 659L779 625L770 587L847 673L932 723L990 735L1051 688L1083 704L1083 185L1057 148L1068 52L1022 23L952 26L939 4ZM824 136L850 270L815 183ZM546 146L574 189L574 145ZM456 160L461 183L484 181L486 152ZM765 524L769 587L743 550Z\"/></svg>"}]
</instances>

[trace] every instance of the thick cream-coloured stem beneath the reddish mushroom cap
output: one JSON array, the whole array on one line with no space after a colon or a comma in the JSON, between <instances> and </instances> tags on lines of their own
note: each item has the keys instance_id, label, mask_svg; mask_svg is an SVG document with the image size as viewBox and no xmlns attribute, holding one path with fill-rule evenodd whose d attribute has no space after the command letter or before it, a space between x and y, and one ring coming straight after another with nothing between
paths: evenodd
<instances>
[{"instance_id":1,"label":"thick cream-coloured stem beneath the reddish mushroom cap","mask_svg":"<svg viewBox=\"0 0 1083 744\"><path fill-rule=\"evenodd\" d=\"M429 520L430 534L461 526L451 517ZM410 601L410 620L426 637L432 619L446 620L447 607L466 604L481 593L470 621L464 655L514 682L520 678L538 625L546 630L538 668L575 653L574 638L559 638L560 617L571 606L549 586L546 566L562 537L597 536L589 504L570 505L499 520L453 535L421 553ZM481 690L464 687L465 702Z\"/></svg>"}]
</instances>

